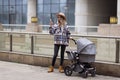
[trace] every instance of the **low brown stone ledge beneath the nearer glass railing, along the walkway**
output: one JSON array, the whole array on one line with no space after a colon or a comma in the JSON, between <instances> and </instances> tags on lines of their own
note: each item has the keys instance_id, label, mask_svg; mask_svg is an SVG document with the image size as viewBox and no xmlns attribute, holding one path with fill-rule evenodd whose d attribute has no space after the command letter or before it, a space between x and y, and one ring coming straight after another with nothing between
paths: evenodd
<instances>
[{"instance_id":1,"label":"low brown stone ledge beneath the nearer glass railing, along the walkway","mask_svg":"<svg viewBox=\"0 0 120 80\"><path fill-rule=\"evenodd\" d=\"M29 65L48 67L51 64L52 58L32 54L18 54L11 52L0 52L0 60L17 62ZM64 66L68 65L70 61L65 59ZM120 64L110 62L95 62L97 74L117 76L120 77ZM59 58L56 61L55 67L59 66Z\"/></svg>"}]
</instances>

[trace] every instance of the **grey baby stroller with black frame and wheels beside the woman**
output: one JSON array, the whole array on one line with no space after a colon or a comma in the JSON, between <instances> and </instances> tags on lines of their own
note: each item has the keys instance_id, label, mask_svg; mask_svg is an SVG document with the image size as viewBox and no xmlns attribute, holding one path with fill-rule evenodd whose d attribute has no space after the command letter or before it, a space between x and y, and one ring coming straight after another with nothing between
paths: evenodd
<instances>
[{"instance_id":1,"label":"grey baby stroller with black frame and wheels beside the woman","mask_svg":"<svg viewBox=\"0 0 120 80\"><path fill-rule=\"evenodd\" d=\"M72 40L77 45L77 50L66 51L72 64L64 68L65 75L71 76L74 71L80 73L83 78L87 78L89 73L94 77L96 74L96 68L92 66L96 54L94 43L86 38Z\"/></svg>"}]
</instances>

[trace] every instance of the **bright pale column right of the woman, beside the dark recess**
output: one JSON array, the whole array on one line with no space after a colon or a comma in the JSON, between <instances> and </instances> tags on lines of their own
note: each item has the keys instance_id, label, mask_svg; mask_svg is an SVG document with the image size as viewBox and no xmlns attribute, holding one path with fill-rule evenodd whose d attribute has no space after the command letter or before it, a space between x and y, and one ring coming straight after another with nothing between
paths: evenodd
<instances>
[{"instance_id":1,"label":"bright pale column right of the woman, beside the dark recess","mask_svg":"<svg viewBox=\"0 0 120 80\"><path fill-rule=\"evenodd\" d=\"M80 28L80 26L87 25L87 0L76 0L75 2L75 32L86 33L86 28Z\"/></svg>"}]
</instances>

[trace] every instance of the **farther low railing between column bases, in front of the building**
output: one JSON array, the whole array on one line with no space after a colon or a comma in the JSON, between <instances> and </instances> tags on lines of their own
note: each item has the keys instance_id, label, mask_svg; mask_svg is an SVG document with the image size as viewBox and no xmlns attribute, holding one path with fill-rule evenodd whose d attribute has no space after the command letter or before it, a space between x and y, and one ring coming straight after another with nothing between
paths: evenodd
<instances>
[{"instance_id":1,"label":"farther low railing between column bases, in front of the building","mask_svg":"<svg viewBox=\"0 0 120 80\"><path fill-rule=\"evenodd\" d=\"M25 32L26 24L2 24L4 31L12 31L12 32ZM42 33L49 32L49 25L40 25L42 27ZM70 26L68 25L71 33L79 33L79 34L96 34L98 26Z\"/></svg>"}]
</instances>

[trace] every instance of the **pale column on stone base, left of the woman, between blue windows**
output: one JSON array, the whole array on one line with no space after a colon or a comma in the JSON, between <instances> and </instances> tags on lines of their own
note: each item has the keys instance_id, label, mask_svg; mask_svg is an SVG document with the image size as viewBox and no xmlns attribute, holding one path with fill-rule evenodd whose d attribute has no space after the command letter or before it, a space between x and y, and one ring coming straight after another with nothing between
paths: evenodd
<instances>
[{"instance_id":1,"label":"pale column on stone base, left of the woman, between blue windows","mask_svg":"<svg viewBox=\"0 0 120 80\"><path fill-rule=\"evenodd\" d=\"M36 15L36 7L37 7L37 0L28 0L28 10L27 10L27 26L26 26L26 31L27 32L38 32L41 31L41 27L39 24L32 23L31 18L32 17L37 17ZM40 30L39 30L40 29Z\"/></svg>"}]
</instances>

